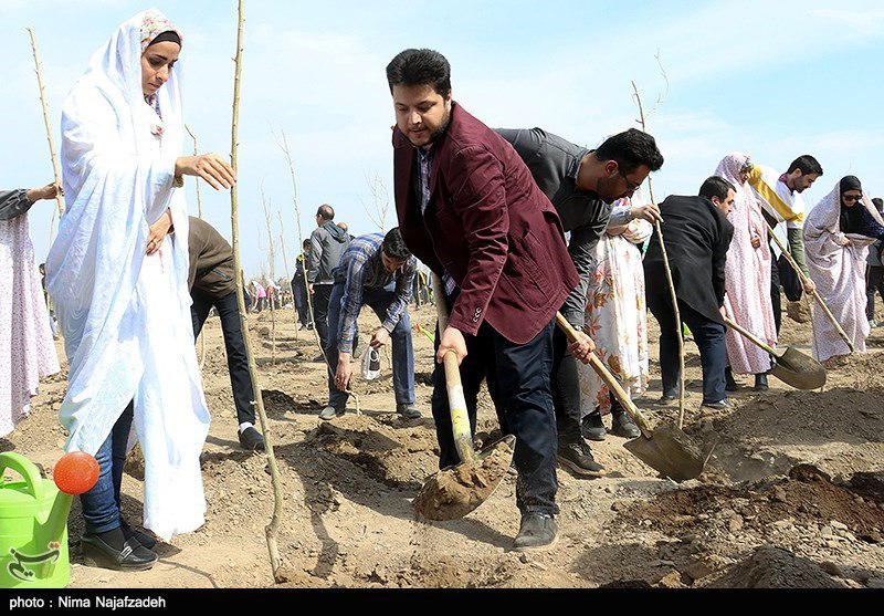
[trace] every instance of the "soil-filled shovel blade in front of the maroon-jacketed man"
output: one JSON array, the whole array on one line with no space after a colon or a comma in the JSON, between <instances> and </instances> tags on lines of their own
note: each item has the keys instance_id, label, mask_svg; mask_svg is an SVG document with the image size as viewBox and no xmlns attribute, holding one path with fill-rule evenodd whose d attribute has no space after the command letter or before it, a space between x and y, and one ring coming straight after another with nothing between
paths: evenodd
<instances>
[{"instance_id":1,"label":"soil-filled shovel blade in front of the maroon-jacketed man","mask_svg":"<svg viewBox=\"0 0 884 616\"><path fill-rule=\"evenodd\" d=\"M485 502L513 462L516 437L507 435L485 447L475 462L461 462L431 476L414 498L418 520L460 520Z\"/></svg>"}]
</instances>

